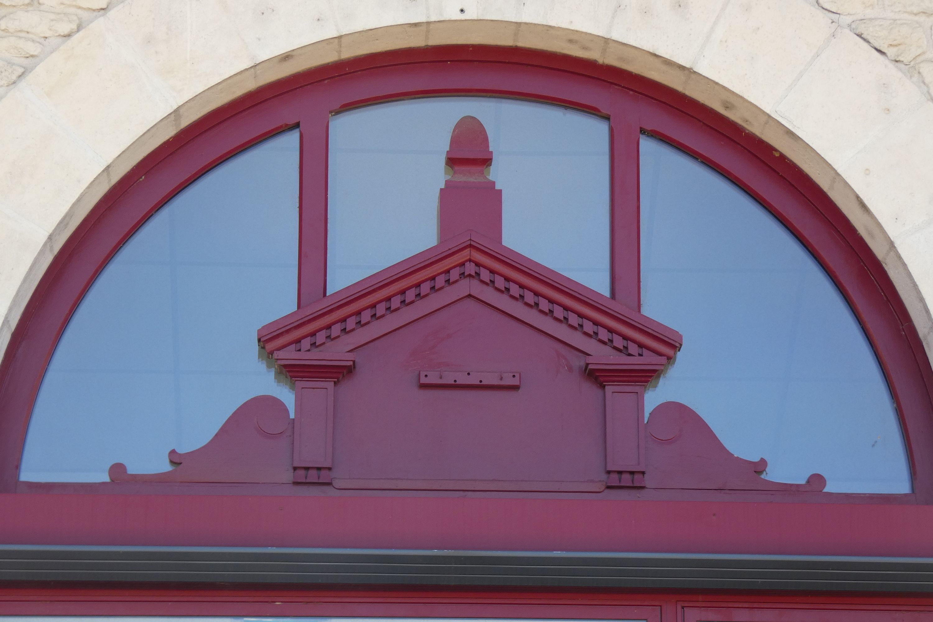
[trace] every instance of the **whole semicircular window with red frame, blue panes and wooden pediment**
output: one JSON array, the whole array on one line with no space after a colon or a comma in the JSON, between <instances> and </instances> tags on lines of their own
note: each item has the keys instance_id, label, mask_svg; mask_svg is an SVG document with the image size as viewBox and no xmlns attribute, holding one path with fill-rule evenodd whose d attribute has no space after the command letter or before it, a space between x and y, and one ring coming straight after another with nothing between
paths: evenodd
<instances>
[{"instance_id":1,"label":"whole semicircular window with red frame, blue panes and wooden pediment","mask_svg":"<svg viewBox=\"0 0 933 622\"><path fill-rule=\"evenodd\" d=\"M929 498L926 359L812 180L647 80L448 53L258 90L114 187L4 359L2 490Z\"/></svg>"}]
</instances>

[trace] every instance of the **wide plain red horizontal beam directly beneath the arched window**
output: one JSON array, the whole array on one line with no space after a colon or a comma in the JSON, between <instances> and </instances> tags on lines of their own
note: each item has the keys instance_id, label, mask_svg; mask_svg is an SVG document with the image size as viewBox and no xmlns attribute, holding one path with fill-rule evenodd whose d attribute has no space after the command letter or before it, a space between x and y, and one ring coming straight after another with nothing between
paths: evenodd
<instances>
[{"instance_id":1,"label":"wide plain red horizontal beam directly beneath the arched window","mask_svg":"<svg viewBox=\"0 0 933 622\"><path fill-rule=\"evenodd\" d=\"M21 493L0 542L933 557L933 506Z\"/></svg>"}]
</instances>

